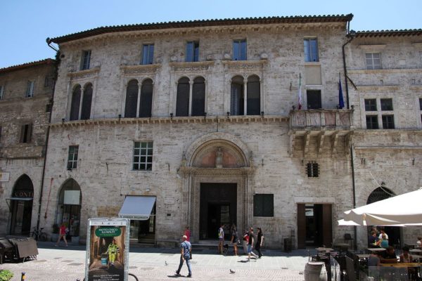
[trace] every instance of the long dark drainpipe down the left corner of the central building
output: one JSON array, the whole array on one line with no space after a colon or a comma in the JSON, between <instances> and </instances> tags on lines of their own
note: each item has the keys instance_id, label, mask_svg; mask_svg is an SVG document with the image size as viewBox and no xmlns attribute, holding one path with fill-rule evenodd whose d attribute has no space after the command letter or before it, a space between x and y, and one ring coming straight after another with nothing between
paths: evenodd
<instances>
[{"instance_id":1,"label":"long dark drainpipe down the left corner of the central building","mask_svg":"<svg viewBox=\"0 0 422 281\"><path fill-rule=\"evenodd\" d=\"M47 38L46 39L47 45L52 48L54 51L56 51L56 71L54 74L54 85L53 85L53 93L51 94L51 111L50 111L50 116L49 116L49 126L47 126L47 131L46 131L46 143L45 143L45 150L44 150L44 162L42 165L42 174L41 174L41 188L39 189L39 202L38 202L38 216L37 216L37 229L39 229L39 222L41 221L41 203L42 203L42 195L43 195L43 191L44 191L44 178L46 175L46 159L47 159L47 150L49 148L49 137L50 137L50 124L51 124L51 113L53 113L53 103L54 103L54 90L56 89L56 81L57 81L57 68L58 65L60 64L60 51L58 51L57 48L54 48L53 46L51 46L51 39ZM51 186L50 186L51 188ZM44 218L46 218L46 215L44 216Z\"/></svg>"}]
</instances>

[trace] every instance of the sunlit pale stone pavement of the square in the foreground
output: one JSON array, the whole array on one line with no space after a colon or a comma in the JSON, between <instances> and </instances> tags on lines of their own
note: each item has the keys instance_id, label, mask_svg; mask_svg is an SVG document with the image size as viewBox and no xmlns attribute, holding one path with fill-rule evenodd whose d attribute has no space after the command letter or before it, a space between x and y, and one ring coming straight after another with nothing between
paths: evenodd
<instances>
[{"instance_id":1,"label":"sunlit pale stone pavement of the square in the foreground","mask_svg":"<svg viewBox=\"0 0 422 281\"><path fill-rule=\"evenodd\" d=\"M51 247L51 243L39 244L37 261L25 263L4 263L1 268L15 273L13 281L20 280L20 273L26 273L25 281L75 281L84 279L85 247ZM307 262L307 251L264 251L262 259L247 261L246 256L222 256L214 250L198 250L192 260L191 280L304 280L302 275ZM187 268L176 277L179 266L177 249L135 248L129 254L129 273L139 280L185 280ZM230 273L230 270L235 273ZM135 280L129 276L129 281Z\"/></svg>"}]
</instances>

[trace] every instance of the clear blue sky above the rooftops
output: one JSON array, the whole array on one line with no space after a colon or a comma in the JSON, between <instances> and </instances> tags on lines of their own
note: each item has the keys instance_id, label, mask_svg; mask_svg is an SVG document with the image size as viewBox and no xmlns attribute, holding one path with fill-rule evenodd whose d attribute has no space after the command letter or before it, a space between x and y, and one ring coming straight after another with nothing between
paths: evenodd
<instances>
[{"instance_id":1,"label":"clear blue sky above the rooftops","mask_svg":"<svg viewBox=\"0 0 422 281\"><path fill-rule=\"evenodd\" d=\"M53 58L47 37L106 25L353 13L352 30L422 28L422 0L0 0L0 68Z\"/></svg>"}]
</instances>

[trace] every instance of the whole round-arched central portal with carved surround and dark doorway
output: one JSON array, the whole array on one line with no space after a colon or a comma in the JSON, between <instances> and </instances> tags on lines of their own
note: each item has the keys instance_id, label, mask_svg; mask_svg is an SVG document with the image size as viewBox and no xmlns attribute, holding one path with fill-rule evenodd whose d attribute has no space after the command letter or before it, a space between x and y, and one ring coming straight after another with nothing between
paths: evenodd
<instances>
[{"instance_id":1,"label":"whole round-arched central portal with carved surround and dark doorway","mask_svg":"<svg viewBox=\"0 0 422 281\"><path fill-rule=\"evenodd\" d=\"M183 218L191 240L215 240L220 223L244 229L252 222L254 169L247 146L228 133L198 138L181 157Z\"/></svg>"}]
</instances>

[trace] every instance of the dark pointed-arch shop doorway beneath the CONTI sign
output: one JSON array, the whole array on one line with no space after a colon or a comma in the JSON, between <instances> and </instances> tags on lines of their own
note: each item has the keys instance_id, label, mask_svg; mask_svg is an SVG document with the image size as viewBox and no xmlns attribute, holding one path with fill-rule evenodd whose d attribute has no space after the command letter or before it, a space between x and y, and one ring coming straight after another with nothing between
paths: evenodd
<instances>
[{"instance_id":1,"label":"dark pointed-arch shop doorway beneath the CONTI sign","mask_svg":"<svg viewBox=\"0 0 422 281\"><path fill-rule=\"evenodd\" d=\"M34 185L29 176L18 178L11 196L11 231L12 235L27 235L31 231L32 201Z\"/></svg>"}]
</instances>

